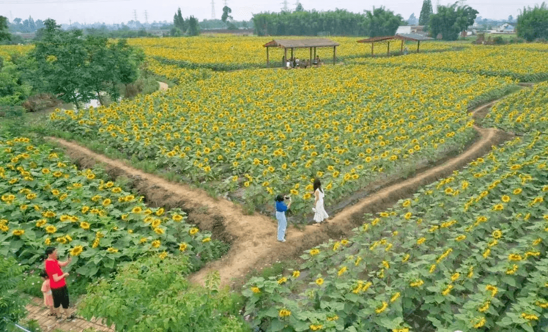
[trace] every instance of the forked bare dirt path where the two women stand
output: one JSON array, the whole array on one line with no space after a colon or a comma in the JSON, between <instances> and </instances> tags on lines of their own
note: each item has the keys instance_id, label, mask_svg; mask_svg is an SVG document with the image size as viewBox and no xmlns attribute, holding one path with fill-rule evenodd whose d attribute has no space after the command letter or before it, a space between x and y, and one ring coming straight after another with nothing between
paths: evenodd
<instances>
[{"instance_id":1,"label":"forked bare dirt path where the two women stand","mask_svg":"<svg viewBox=\"0 0 548 332\"><path fill-rule=\"evenodd\" d=\"M495 102L496 100L478 106L472 113L483 115ZM203 284L207 274L216 270L219 271L222 284L235 287L241 285L246 274L253 269L259 270L277 260L298 257L303 250L326 242L329 238L339 239L348 236L352 228L362 224L364 213L383 211L398 199L410 197L419 187L452 174L454 170L483 156L490 151L491 146L500 144L509 137L509 134L497 129L475 129L478 139L463 153L415 174L412 178L381 188L357 203L347 206L320 227L309 225L299 230L289 226L286 243L277 241L277 223L273 217L258 213L244 215L238 205L226 199L212 198L203 190L169 182L160 176L130 167L123 161L90 151L75 142L59 138L50 140L64 147L67 154L73 159L78 159L76 162L83 164L84 167L91 167L93 163L98 162L103 164L107 173L112 176L124 175L133 179L136 188L145 194L147 200L150 201L152 198L156 204L166 205L168 208L181 207L188 211L190 222L212 231L214 237L231 242L232 246L224 257L210 262L192 274L190 279L192 282Z\"/></svg>"}]
</instances>

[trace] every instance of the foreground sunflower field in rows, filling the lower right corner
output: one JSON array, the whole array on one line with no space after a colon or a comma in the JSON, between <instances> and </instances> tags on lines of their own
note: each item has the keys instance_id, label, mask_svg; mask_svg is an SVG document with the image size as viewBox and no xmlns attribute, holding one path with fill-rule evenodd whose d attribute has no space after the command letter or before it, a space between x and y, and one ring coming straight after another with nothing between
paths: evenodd
<instances>
[{"instance_id":1,"label":"foreground sunflower field in rows, filling the lower right corner","mask_svg":"<svg viewBox=\"0 0 548 332\"><path fill-rule=\"evenodd\" d=\"M286 275L250 279L247 313L269 331L544 331L547 94L541 83L493 106L489 119L518 135L504 146Z\"/></svg>"}]
</instances>

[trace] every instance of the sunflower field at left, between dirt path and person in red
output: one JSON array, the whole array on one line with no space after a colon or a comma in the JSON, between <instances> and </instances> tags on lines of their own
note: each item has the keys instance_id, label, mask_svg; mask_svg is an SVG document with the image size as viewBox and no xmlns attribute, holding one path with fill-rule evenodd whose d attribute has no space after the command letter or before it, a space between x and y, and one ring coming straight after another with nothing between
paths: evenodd
<instances>
[{"instance_id":1,"label":"sunflower field at left, between dirt path and person in red","mask_svg":"<svg viewBox=\"0 0 548 332\"><path fill-rule=\"evenodd\" d=\"M178 209L148 208L142 197L28 138L1 140L0 152L3 256L40 265L44 248L54 245L88 277L145 255L191 253L195 268L203 264L197 254L213 258L210 234L186 224Z\"/></svg>"}]
</instances>

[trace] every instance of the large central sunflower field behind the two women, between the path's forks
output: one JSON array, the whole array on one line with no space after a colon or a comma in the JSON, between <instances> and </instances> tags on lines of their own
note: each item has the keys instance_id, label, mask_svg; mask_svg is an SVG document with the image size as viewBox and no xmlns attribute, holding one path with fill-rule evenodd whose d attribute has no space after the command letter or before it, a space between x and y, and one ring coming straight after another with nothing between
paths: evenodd
<instances>
[{"instance_id":1,"label":"large central sunflower field behind the two women, between the path's forks","mask_svg":"<svg viewBox=\"0 0 548 332\"><path fill-rule=\"evenodd\" d=\"M332 203L464 147L475 135L467 108L515 84L365 65L210 74L109 107L56 110L50 120L217 194L253 198L257 207L290 192L302 214L315 177Z\"/></svg>"}]
</instances>

